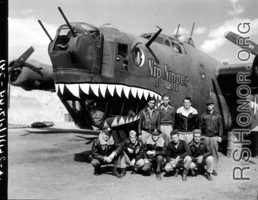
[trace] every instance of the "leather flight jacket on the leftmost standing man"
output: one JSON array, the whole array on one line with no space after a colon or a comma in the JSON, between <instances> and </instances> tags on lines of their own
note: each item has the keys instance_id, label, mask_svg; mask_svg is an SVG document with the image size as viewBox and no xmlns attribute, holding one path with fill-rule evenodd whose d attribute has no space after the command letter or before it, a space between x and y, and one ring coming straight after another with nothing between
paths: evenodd
<instances>
[{"instance_id":1,"label":"leather flight jacket on the leftmost standing man","mask_svg":"<svg viewBox=\"0 0 258 200\"><path fill-rule=\"evenodd\" d=\"M142 135L142 130L150 133L153 128L160 129L160 112L154 108L150 116L148 107L142 109L138 122L138 134Z\"/></svg>"}]
</instances>

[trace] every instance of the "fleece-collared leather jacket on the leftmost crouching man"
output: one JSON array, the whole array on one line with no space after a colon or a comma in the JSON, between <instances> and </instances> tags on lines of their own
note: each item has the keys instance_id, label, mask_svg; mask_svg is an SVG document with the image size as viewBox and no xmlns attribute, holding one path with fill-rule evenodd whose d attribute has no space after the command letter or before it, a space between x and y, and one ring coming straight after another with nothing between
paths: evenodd
<instances>
[{"instance_id":1,"label":"fleece-collared leather jacket on the leftmost crouching man","mask_svg":"<svg viewBox=\"0 0 258 200\"><path fill-rule=\"evenodd\" d=\"M105 157L109 156L112 152L115 152L115 154L118 155L123 149L123 145L116 140L114 141L112 136L110 136L108 141L105 141L101 132L99 138L93 141L91 156L94 159L104 161Z\"/></svg>"}]
</instances>

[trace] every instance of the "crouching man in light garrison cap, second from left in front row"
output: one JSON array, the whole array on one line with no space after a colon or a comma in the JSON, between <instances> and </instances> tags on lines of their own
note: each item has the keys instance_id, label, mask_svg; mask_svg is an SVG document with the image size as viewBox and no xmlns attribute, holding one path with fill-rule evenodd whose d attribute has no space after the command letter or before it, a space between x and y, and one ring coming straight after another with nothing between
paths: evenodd
<instances>
[{"instance_id":1,"label":"crouching man in light garrison cap, second from left in front row","mask_svg":"<svg viewBox=\"0 0 258 200\"><path fill-rule=\"evenodd\" d=\"M134 130L130 131L129 136L130 138L126 138L122 141L124 147L124 151L121 155L122 177L126 174L126 164L133 167L133 174L136 174L136 171L141 169L144 165L143 141L137 138Z\"/></svg>"}]
</instances>

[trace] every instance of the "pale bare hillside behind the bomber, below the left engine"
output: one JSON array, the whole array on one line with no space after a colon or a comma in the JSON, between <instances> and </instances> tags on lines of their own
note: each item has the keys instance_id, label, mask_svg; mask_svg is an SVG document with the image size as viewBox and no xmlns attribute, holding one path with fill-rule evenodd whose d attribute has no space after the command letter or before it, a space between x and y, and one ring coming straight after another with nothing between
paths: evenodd
<instances>
[{"instance_id":1,"label":"pale bare hillside behind the bomber, below the left engine","mask_svg":"<svg viewBox=\"0 0 258 200\"><path fill-rule=\"evenodd\" d=\"M55 92L25 91L11 86L9 124L30 125L37 121L64 122L65 113L68 112Z\"/></svg>"}]
</instances>

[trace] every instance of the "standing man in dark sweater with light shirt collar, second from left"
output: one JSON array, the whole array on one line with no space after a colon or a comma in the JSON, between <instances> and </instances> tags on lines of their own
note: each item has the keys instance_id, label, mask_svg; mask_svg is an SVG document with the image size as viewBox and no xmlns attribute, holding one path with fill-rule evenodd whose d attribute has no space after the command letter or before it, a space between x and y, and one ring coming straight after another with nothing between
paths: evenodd
<instances>
[{"instance_id":1,"label":"standing man in dark sweater with light shirt collar, second from left","mask_svg":"<svg viewBox=\"0 0 258 200\"><path fill-rule=\"evenodd\" d=\"M175 120L175 108L169 105L170 96L164 94L162 96L163 104L157 108L160 112L160 130L161 137L164 139L166 146L171 142L170 133L173 130Z\"/></svg>"}]
</instances>

